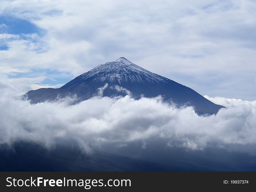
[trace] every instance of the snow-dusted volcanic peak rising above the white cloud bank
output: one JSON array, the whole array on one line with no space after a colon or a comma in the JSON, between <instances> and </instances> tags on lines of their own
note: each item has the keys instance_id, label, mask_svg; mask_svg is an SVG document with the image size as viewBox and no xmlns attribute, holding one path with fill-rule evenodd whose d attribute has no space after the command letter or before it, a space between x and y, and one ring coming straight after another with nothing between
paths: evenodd
<instances>
[{"instance_id":1,"label":"snow-dusted volcanic peak rising above the white cloud bank","mask_svg":"<svg viewBox=\"0 0 256 192\"><path fill-rule=\"evenodd\" d=\"M105 87L104 87L105 86ZM162 95L165 101L194 106L198 114L216 114L221 105L216 105L198 94L193 89L162 77L120 57L116 61L99 65L79 75L61 88L41 88L27 92L31 103L62 98L76 94L79 101L98 94L104 87L103 96L125 96L131 94L135 99Z\"/></svg>"}]
</instances>

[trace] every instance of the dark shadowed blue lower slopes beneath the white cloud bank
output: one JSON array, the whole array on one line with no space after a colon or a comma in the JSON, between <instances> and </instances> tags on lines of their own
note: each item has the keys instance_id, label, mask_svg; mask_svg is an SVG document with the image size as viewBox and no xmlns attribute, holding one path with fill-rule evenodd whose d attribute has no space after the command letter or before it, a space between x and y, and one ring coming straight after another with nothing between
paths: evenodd
<instances>
[{"instance_id":1,"label":"dark shadowed blue lower slopes beneath the white cloud bank","mask_svg":"<svg viewBox=\"0 0 256 192\"><path fill-rule=\"evenodd\" d=\"M127 147L103 145L93 154L84 154L76 143L57 143L51 150L30 142L0 147L0 171L256 171L255 156L222 148L181 150L163 147L161 138L129 143Z\"/></svg>"}]
</instances>

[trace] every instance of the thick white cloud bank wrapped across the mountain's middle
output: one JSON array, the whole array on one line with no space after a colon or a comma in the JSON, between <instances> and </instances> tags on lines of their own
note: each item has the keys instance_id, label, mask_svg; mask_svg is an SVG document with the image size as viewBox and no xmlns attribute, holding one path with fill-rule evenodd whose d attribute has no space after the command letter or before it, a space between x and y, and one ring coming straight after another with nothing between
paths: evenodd
<instances>
[{"instance_id":1,"label":"thick white cloud bank wrapped across the mountain's middle","mask_svg":"<svg viewBox=\"0 0 256 192\"><path fill-rule=\"evenodd\" d=\"M125 147L141 141L143 149L147 142L165 140L169 147L186 150L211 146L239 151L244 147L255 154L255 105L234 104L203 117L191 107L177 109L164 103L161 97L95 96L76 105L70 105L67 97L31 105L17 99L15 88L5 80L0 81L0 89L0 144L11 146L24 140L51 149L59 139L76 140L90 153L106 143Z\"/></svg>"}]
</instances>

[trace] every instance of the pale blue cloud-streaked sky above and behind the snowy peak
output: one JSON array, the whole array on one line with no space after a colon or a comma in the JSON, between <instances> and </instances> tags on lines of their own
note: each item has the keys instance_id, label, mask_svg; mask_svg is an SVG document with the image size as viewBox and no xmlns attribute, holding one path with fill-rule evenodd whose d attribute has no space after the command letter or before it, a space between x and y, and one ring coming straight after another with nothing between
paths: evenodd
<instances>
[{"instance_id":1,"label":"pale blue cloud-streaked sky above and behind the snowy peak","mask_svg":"<svg viewBox=\"0 0 256 192\"><path fill-rule=\"evenodd\" d=\"M125 57L209 98L256 100L256 2L0 1L0 75L19 94Z\"/></svg>"}]
</instances>

